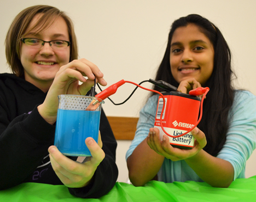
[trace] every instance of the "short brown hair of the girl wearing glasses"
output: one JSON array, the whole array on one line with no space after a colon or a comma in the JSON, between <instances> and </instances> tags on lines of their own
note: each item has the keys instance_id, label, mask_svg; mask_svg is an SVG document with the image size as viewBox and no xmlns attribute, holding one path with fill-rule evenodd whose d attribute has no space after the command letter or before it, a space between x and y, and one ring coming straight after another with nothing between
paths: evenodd
<instances>
[{"instance_id":1,"label":"short brown hair of the girl wearing glasses","mask_svg":"<svg viewBox=\"0 0 256 202\"><path fill-rule=\"evenodd\" d=\"M27 30L33 17L42 14L38 22ZM13 74L24 77L24 68L20 62L20 41L32 29L36 33L42 32L51 26L57 17L62 17L67 23L70 41L69 62L78 58L77 38L74 33L72 20L63 12L49 5L34 5L22 10L13 20L5 39L5 56Z\"/></svg>"}]
</instances>

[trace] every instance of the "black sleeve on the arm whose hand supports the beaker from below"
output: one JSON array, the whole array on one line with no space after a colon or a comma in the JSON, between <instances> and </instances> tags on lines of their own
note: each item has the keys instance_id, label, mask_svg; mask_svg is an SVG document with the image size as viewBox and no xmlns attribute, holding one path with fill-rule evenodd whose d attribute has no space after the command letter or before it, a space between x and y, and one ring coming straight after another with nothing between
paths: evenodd
<instances>
[{"instance_id":1,"label":"black sleeve on the arm whose hand supports the beaker from below","mask_svg":"<svg viewBox=\"0 0 256 202\"><path fill-rule=\"evenodd\" d=\"M105 158L98 165L92 182L86 187L68 188L71 194L81 198L100 198L104 194L107 194L117 181L118 168L115 164L117 141L103 110L101 111L100 132Z\"/></svg>"}]
</instances>

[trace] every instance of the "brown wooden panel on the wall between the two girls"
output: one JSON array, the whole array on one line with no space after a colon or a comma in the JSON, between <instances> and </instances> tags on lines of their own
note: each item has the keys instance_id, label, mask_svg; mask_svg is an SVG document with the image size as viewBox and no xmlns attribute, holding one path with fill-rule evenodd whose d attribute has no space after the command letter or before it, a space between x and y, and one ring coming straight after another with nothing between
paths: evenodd
<instances>
[{"instance_id":1,"label":"brown wooden panel on the wall between the two girls","mask_svg":"<svg viewBox=\"0 0 256 202\"><path fill-rule=\"evenodd\" d=\"M132 140L135 136L138 118L107 117L115 139Z\"/></svg>"}]
</instances>

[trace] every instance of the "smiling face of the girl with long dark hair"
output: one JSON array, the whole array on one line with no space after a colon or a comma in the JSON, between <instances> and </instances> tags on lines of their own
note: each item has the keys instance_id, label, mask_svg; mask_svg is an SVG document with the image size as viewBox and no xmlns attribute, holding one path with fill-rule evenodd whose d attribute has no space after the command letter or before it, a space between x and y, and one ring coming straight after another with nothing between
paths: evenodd
<instances>
[{"instance_id":1,"label":"smiling face of the girl with long dark hair","mask_svg":"<svg viewBox=\"0 0 256 202\"><path fill-rule=\"evenodd\" d=\"M174 31L170 65L178 83L187 78L195 78L204 85L212 74L213 60L213 45L198 26L189 24Z\"/></svg>"}]
</instances>

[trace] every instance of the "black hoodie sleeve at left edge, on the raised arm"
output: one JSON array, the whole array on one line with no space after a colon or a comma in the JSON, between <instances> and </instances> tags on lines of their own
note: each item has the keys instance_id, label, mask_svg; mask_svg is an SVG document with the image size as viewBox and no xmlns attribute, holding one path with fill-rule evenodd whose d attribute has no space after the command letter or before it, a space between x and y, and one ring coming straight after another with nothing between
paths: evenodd
<instances>
[{"instance_id":1,"label":"black hoodie sleeve at left edge, on the raised arm","mask_svg":"<svg viewBox=\"0 0 256 202\"><path fill-rule=\"evenodd\" d=\"M24 181L37 168L54 142L55 126L48 124L37 107L8 123L1 106L0 115L0 189Z\"/></svg>"}]
</instances>

